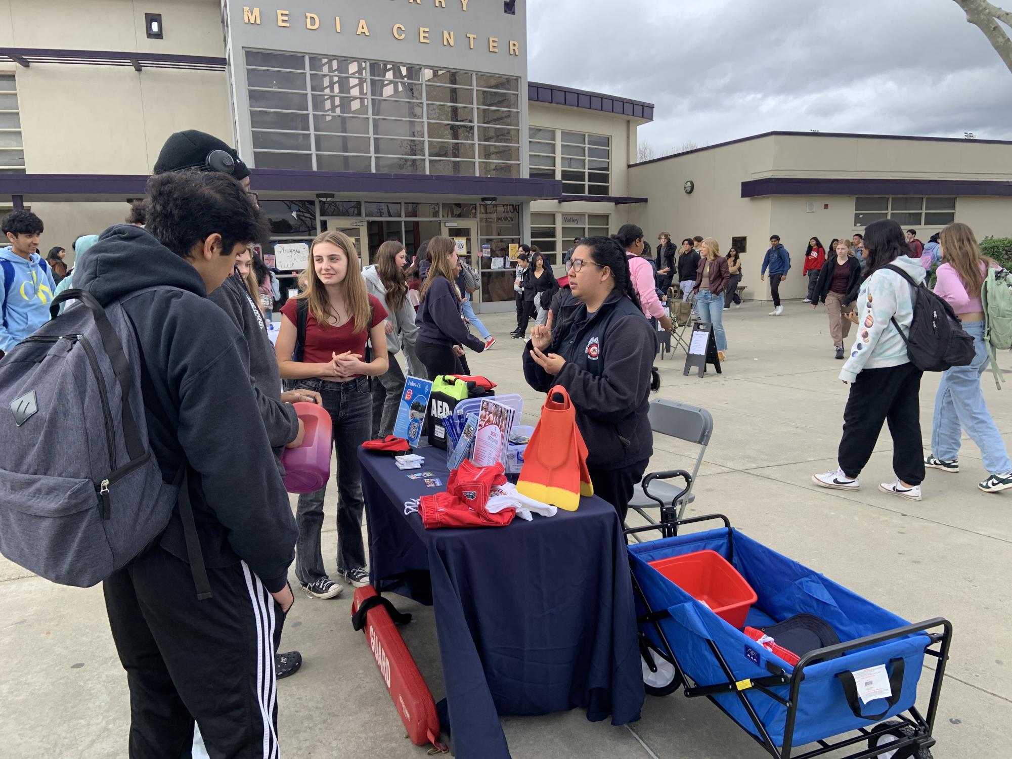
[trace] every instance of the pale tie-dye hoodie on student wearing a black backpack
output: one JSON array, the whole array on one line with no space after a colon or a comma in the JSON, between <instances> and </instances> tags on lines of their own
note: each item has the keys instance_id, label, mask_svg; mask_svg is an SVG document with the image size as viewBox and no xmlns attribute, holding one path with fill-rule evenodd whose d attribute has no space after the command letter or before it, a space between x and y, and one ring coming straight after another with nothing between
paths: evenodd
<instances>
[{"instance_id":1,"label":"pale tie-dye hoodie on student wearing a black backpack","mask_svg":"<svg viewBox=\"0 0 1012 759\"><path fill-rule=\"evenodd\" d=\"M915 282L924 281L926 272L920 260L900 256L893 265L910 274ZM904 334L910 331L914 320L912 296L910 282L889 269L878 269L864 280L854 304L858 317L857 337L840 371L841 380L852 383L861 369L899 366L910 361L907 344L893 326L892 319L896 318Z\"/></svg>"}]
</instances>

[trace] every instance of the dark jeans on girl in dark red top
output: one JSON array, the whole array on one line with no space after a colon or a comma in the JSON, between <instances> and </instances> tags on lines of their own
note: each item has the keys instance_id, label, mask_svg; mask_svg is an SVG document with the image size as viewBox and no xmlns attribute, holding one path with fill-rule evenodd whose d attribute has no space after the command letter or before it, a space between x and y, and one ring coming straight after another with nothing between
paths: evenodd
<instances>
[{"instance_id":1,"label":"dark jeans on girl in dark red top","mask_svg":"<svg viewBox=\"0 0 1012 759\"><path fill-rule=\"evenodd\" d=\"M372 426L372 396L368 377L346 383L323 380L299 380L299 389L315 390L323 398L323 407L334 425L337 448L337 569L338 572L365 567L362 544L362 474L358 467L358 446L369 439ZM323 530L323 498L327 486L315 493L299 496L296 524L296 577L310 585L327 577L320 549Z\"/></svg>"}]
</instances>

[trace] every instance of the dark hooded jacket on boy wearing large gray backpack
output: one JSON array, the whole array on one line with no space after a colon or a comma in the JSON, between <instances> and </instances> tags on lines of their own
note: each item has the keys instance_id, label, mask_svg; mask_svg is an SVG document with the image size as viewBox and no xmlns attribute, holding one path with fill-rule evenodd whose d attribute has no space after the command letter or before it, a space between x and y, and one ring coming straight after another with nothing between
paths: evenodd
<instances>
[{"instance_id":1,"label":"dark hooded jacket on boy wearing large gray backpack","mask_svg":"<svg viewBox=\"0 0 1012 759\"><path fill-rule=\"evenodd\" d=\"M139 227L102 233L74 274L102 305L145 287L125 305L143 357L145 421L170 481L183 457L204 562L246 562L271 592L287 581L298 529L250 382L246 341L207 300L189 263ZM161 545L186 562L178 507Z\"/></svg>"}]
</instances>

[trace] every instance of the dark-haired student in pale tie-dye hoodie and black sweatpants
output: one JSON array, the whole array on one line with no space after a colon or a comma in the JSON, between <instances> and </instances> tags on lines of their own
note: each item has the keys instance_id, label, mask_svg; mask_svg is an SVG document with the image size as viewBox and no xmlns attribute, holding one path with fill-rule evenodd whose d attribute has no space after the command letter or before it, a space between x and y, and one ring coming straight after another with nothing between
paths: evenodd
<instances>
[{"instance_id":1,"label":"dark-haired student in pale tie-dye hoodie and black sweatpants","mask_svg":"<svg viewBox=\"0 0 1012 759\"><path fill-rule=\"evenodd\" d=\"M850 385L850 396L843 412L838 467L825 475L813 475L812 482L822 488L859 490L858 477L871 458L882 424L889 422L897 479L878 489L920 501L924 480L919 400L922 372L910 362L907 343L893 325L895 319L904 334L910 332L913 293L900 273L883 267L898 266L915 282L924 281L924 267L908 255L903 229L895 221L872 222L864 233L868 268L857 296L857 339L840 371L843 383Z\"/></svg>"}]
</instances>

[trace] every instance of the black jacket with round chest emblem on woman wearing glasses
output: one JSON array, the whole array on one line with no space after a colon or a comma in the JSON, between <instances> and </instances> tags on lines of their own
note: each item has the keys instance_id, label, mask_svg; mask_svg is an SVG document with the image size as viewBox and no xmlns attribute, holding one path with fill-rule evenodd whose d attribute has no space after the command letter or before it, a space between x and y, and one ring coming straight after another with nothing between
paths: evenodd
<instances>
[{"instance_id":1,"label":"black jacket with round chest emblem on woman wearing glasses","mask_svg":"<svg viewBox=\"0 0 1012 759\"><path fill-rule=\"evenodd\" d=\"M559 324L545 353L566 359L552 376L523 352L527 384L546 393L556 385L569 392L576 423L587 443L587 465L617 470L650 457L654 433L647 418L650 374L657 337L643 312L612 290L595 313L575 298L560 306Z\"/></svg>"}]
</instances>

